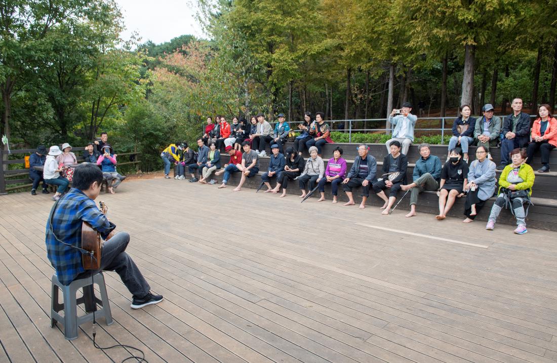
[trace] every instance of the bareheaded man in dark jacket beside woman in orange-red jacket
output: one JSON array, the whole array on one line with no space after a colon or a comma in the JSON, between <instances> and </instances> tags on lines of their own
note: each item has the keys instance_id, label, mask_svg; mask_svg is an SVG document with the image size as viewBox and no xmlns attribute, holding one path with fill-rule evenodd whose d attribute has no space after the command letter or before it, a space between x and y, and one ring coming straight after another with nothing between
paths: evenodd
<instances>
[{"instance_id":1,"label":"bareheaded man in dark jacket beside woman in orange-red jacket","mask_svg":"<svg viewBox=\"0 0 557 363\"><path fill-rule=\"evenodd\" d=\"M510 164L509 153L512 149L524 148L530 141L530 115L522 112L522 99L515 97L511 103L512 114L503 121L501 140L501 164L497 170Z\"/></svg>"}]
</instances>

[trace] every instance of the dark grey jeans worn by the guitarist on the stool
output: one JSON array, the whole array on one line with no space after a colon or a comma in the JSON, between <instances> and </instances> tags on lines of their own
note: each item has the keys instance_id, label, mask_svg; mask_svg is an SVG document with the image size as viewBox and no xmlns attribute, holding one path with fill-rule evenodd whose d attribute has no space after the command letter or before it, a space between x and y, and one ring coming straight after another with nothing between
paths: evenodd
<instances>
[{"instance_id":1,"label":"dark grey jeans worn by the guitarist on the stool","mask_svg":"<svg viewBox=\"0 0 557 363\"><path fill-rule=\"evenodd\" d=\"M90 277L91 273L95 274L99 271L115 271L120 275L120 279L131 292L131 295L136 298L147 295L151 290L149 283L145 281L134 260L125 252L129 242L130 235L128 233L116 233L113 238L105 241L102 245L101 268L97 271L89 270L80 273L76 279Z\"/></svg>"}]
</instances>

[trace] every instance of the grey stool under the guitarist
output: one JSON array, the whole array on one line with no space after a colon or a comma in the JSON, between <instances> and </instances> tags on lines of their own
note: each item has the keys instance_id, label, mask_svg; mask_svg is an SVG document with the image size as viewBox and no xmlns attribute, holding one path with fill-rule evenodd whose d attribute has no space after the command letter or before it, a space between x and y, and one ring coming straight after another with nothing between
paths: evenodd
<instances>
[{"instance_id":1,"label":"grey stool under the guitarist","mask_svg":"<svg viewBox=\"0 0 557 363\"><path fill-rule=\"evenodd\" d=\"M93 320L93 311L95 311L95 319L104 317L106 325L113 323L112 314L110 313L110 303L102 272L97 272L93 276L93 283L99 286L101 300L95 297L95 291L91 284L91 277L80 278L72 281L68 286L64 286L58 281L56 274L52 275L52 298L50 310L50 326L54 327L57 322L64 325L64 336L67 340L77 338L77 326L87 321ZM76 298L77 290L83 288L83 296ZM58 302L58 289L62 290L63 303ZM77 305L85 304L84 316L77 316ZM102 306L97 310L97 304ZM58 312L64 311L61 316Z\"/></svg>"}]
</instances>

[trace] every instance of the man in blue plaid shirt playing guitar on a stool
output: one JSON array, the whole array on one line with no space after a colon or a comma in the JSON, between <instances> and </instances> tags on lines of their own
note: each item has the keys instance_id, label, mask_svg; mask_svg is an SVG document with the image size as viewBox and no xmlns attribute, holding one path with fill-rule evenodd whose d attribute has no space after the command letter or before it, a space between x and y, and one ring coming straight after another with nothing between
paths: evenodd
<instances>
[{"instance_id":1,"label":"man in blue plaid shirt playing guitar on a stool","mask_svg":"<svg viewBox=\"0 0 557 363\"><path fill-rule=\"evenodd\" d=\"M77 165L73 188L54 204L46 224L46 249L58 280L65 285L79 278L89 277L97 271L86 271L82 263L81 225L87 222L106 241L102 247L100 269L116 271L133 295L131 308L138 309L163 300L153 295L143 274L125 252L130 235L115 233L116 225L97 208L94 200L99 196L102 172L94 164Z\"/></svg>"}]
</instances>

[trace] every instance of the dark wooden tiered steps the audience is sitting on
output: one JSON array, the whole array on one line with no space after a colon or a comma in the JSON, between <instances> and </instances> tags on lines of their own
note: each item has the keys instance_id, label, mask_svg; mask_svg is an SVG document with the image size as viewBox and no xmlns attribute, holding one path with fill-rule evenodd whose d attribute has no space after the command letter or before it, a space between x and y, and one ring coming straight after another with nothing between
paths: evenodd
<instances>
[{"instance_id":1,"label":"dark wooden tiered steps the audience is sitting on","mask_svg":"<svg viewBox=\"0 0 557 363\"><path fill-rule=\"evenodd\" d=\"M357 145L356 144L333 144L333 145L339 145L341 148L343 148L344 151L343 157L348 161L348 169L350 169L353 163L353 159L355 158L355 155L357 155L357 151L356 151ZM287 146L290 145L287 144L286 147ZM333 147L331 146L332 145L325 145L325 148L323 149L325 163L331 157L329 155L332 155L332 149L334 146ZM369 146L370 146L370 153L372 153L372 155L374 155L375 158L378 159L378 173L379 173L380 172L379 170L382 168L383 165L383 158L387 154L387 149L385 148L384 144L369 144ZM442 148L444 148L444 150ZM441 161L444 162L446 158L447 147L434 145L432 146L431 149L432 149L432 154L437 154L440 158L441 156L443 156L441 158L442 159ZM495 158L496 155L495 150L492 149L492 152L494 153L494 158ZM415 162L419 156L419 153L417 152L417 145L413 145L409 150L408 154L410 155L409 161ZM376 156L376 155L380 155L380 156ZM470 155L471 156L473 155L472 150ZM555 154L555 156L557 156L557 154ZM228 154L223 153L221 154L221 157L222 157L222 165L226 164L229 160ZM304 155L304 158L307 158L307 151ZM268 170L268 162L269 162L268 157L260 158L260 172L259 172L260 175L265 173ZM412 172L414 169L414 165L415 165L414 163L409 163L408 165L408 170L407 170L408 183L412 181ZM557 165L555 166L555 168L557 168ZM501 171L497 170L497 178L499 178L500 173ZM532 196L532 202L534 203L534 205L532 205L529 209L529 213L527 217L527 225L529 227L557 231L557 172L556 171L551 171L550 173L536 172L535 174L536 174L536 181L534 183L534 193ZM213 178L217 179L219 183L222 181L222 175L218 177L215 177L213 175ZM229 186L238 185L239 181L240 181L240 173L234 173L231 179L229 179L228 185ZM258 188L260 183L261 183L261 177L256 176L255 178L247 179L246 183L243 185L243 188L246 189ZM271 181L271 185L274 187L275 180ZM262 193L263 190L265 190L265 187L261 189L260 193ZM288 193L293 195L300 194L300 189L297 181L293 181L289 183ZM398 198L401 198L403 195L404 193L402 191L399 192ZM318 197L318 196L319 193L316 192L314 197ZM358 192L354 193L354 196L356 202L361 200L360 194ZM323 203L330 203L331 200L333 199L330 192L330 184L326 185L325 187L325 197L328 199L328 202L323 202ZM348 198L346 198L346 194L344 193L344 190L342 190L341 187L339 188L338 198L339 198L339 202L348 201ZM397 209L408 210L409 202L410 202L410 198L408 194L402 200L402 202L400 202ZM451 217L458 217L464 219L465 218L465 216L463 215L464 202L465 202L464 198L457 199L455 205L453 206L453 208L451 209L448 215ZM494 202L495 202L495 198L491 198L490 200L487 201L485 207L483 207L483 209L480 211L480 213L478 213L478 216L476 217L478 221L485 222L487 220L491 212L491 206ZM315 203L315 199L307 200L305 203ZM373 193L370 193L367 204L374 207L380 207L381 205L383 205L383 200L381 200ZM339 204L339 208L341 207L343 206ZM344 208L348 208L348 207L344 207ZM372 208L372 210L374 213L375 212L380 213L380 210L378 208ZM418 199L418 204L417 204L417 212L431 213L432 215L436 215L439 213L438 197L435 192L424 192L420 194L420 197ZM516 219L512 217L509 210L505 209L501 212L499 218L497 219L497 223L514 225L516 224Z\"/></svg>"}]
</instances>

